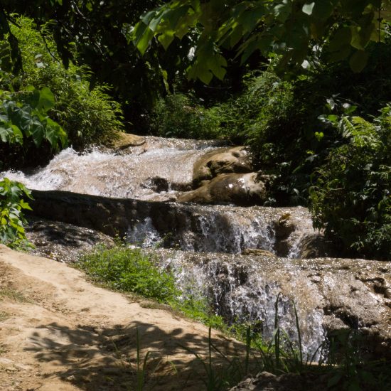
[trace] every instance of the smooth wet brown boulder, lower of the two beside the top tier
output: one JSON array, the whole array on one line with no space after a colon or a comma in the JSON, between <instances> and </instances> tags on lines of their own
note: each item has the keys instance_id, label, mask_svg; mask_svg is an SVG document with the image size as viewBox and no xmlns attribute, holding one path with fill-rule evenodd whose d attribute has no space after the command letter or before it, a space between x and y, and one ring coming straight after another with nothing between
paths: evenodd
<instances>
[{"instance_id":1,"label":"smooth wet brown boulder, lower of the two beside the top tier","mask_svg":"<svg viewBox=\"0 0 391 391\"><path fill-rule=\"evenodd\" d=\"M235 203L235 205L262 205L267 200L265 183L258 173L223 173L203 186L184 193L178 202Z\"/></svg>"}]
</instances>

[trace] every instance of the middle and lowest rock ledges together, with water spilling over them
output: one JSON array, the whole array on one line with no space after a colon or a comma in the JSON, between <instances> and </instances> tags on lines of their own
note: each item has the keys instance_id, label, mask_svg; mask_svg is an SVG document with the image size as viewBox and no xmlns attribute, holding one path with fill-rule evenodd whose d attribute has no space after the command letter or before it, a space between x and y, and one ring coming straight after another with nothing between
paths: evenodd
<instances>
[{"instance_id":1,"label":"middle and lowest rock ledges together, with water spilling over them","mask_svg":"<svg viewBox=\"0 0 391 391\"><path fill-rule=\"evenodd\" d=\"M273 250L273 242L267 247L264 244L267 242L253 240L260 240L262 232L276 224L282 228L278 235L274 233L270 237L286 237L290 226L297 227L306 216L304 208L151 203L60 191L33 191L33 197L33 213L43 218L63 220L109 235L130 232L134 238L148 228L150 238L157 235L166 247L204 251L159 250L171 262L179 257L181 270L188 264L189 270L196 272L196 277L186 277L183 272L184 281L199 281L215 308L228 321L235 318L245 321L250 317L261 322L265 333L272 333L274 303L282 292L281 320L286 327L291 327L294 338L291 305L294 300L302 321L303 338L313 341L309 351L319 346L321 341L316 338L323 338L323 331L332 336L353 330L362 337L366 355L391 358L390 262L289 259L267 252L259 255L253 250L245 251L247 255L221 253ZM265 220L269 220L268 225L262 225ZM224 242L219 242L220 239Z\"/></svg>"}]
</instances>

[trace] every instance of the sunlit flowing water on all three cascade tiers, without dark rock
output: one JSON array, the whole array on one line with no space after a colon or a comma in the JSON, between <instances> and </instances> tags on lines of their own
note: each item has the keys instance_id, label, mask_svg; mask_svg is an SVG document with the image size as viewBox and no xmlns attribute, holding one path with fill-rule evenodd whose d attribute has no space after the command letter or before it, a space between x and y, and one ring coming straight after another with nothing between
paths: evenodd
<instances>
[{"instance_id":1,"label":"sunlit flowing water on all three cascade tiers, without dark rock","mask_svg":"<svg viewBox=\"0 0 391 391\"><path fill-rule=\"evenodd\" d=\"M178 194L191 190L195 161L218 148L210 141L145 139L144 144L126 151L93 150L77 154L73 149L65 149L44 168L30 173L7 171L0 173L0 178L6 176L41 191L174 201ZM314 234L308 210L175 202L148 205L152 206L140 206L141 217L129 220L127 240L142 247L163 245L184 250L168 252L162 261L176 272L184 292L210 297L215 311L227 321L259 321L264 335L270 337L274 329L274 304L279 292L284 291L278 306L279 317L289 336L296 337L291 299L296 296L299 267L286 261L272 271L271 267L265 269L253 262L250 255L234 254L258 249L298 257L301 239ZM153 209L155 212L150 213ZM289 229L284 232L279 230L282 217L289 218ZM201 252L212 254L208 262L197 259ZM227 253L227 257L221 253ZM298 303L298 308L305 351L314 353L323 338L321 313L306 309L305 300Z\"/></svg>"}]
</instances>

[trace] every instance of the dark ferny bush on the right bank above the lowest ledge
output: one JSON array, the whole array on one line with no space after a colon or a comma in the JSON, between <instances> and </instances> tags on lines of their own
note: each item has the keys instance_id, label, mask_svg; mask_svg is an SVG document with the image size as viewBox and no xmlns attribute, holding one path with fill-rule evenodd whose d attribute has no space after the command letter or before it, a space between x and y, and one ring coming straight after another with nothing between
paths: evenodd
<instances>
[{"instance_id":1,"label":"dark ferny bush on the right bank above the lowest ledge","mask_svg":"<svg viewBox=\"0 0 391 391\"><path fill-rule=\"evenodd\" d=\"M331 149L311 188L314 225L360 257L390 259L391 106L373 122L335 120L348 144Z\"/></svg>"}]
</instances>

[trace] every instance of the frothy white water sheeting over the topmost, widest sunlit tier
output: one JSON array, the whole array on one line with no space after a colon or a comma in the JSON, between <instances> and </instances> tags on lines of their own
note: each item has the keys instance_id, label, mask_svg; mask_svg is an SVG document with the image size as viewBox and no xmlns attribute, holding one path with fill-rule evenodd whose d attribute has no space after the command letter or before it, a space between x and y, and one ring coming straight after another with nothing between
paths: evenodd
<instances>
[{"instance_id":1,"label":"frothy white water sheeting over the topmost, widest sunlit tier","mask_svg":"<svg viewBox=\"0 0 391 391\"><path fill-rule=\"evenodd\" d=\"M37 172L4 171L0 178L19 181L35 190L168 200L175 198L176 187L191 185L194 162L211 149L207 142L191 145L184 141L158 143L153 137L146 140L143 146L121 155L97 150L77 154L68 148ZM167 188L156 188L154 178L161 178Z\"/></svg>"}]
</instances>

